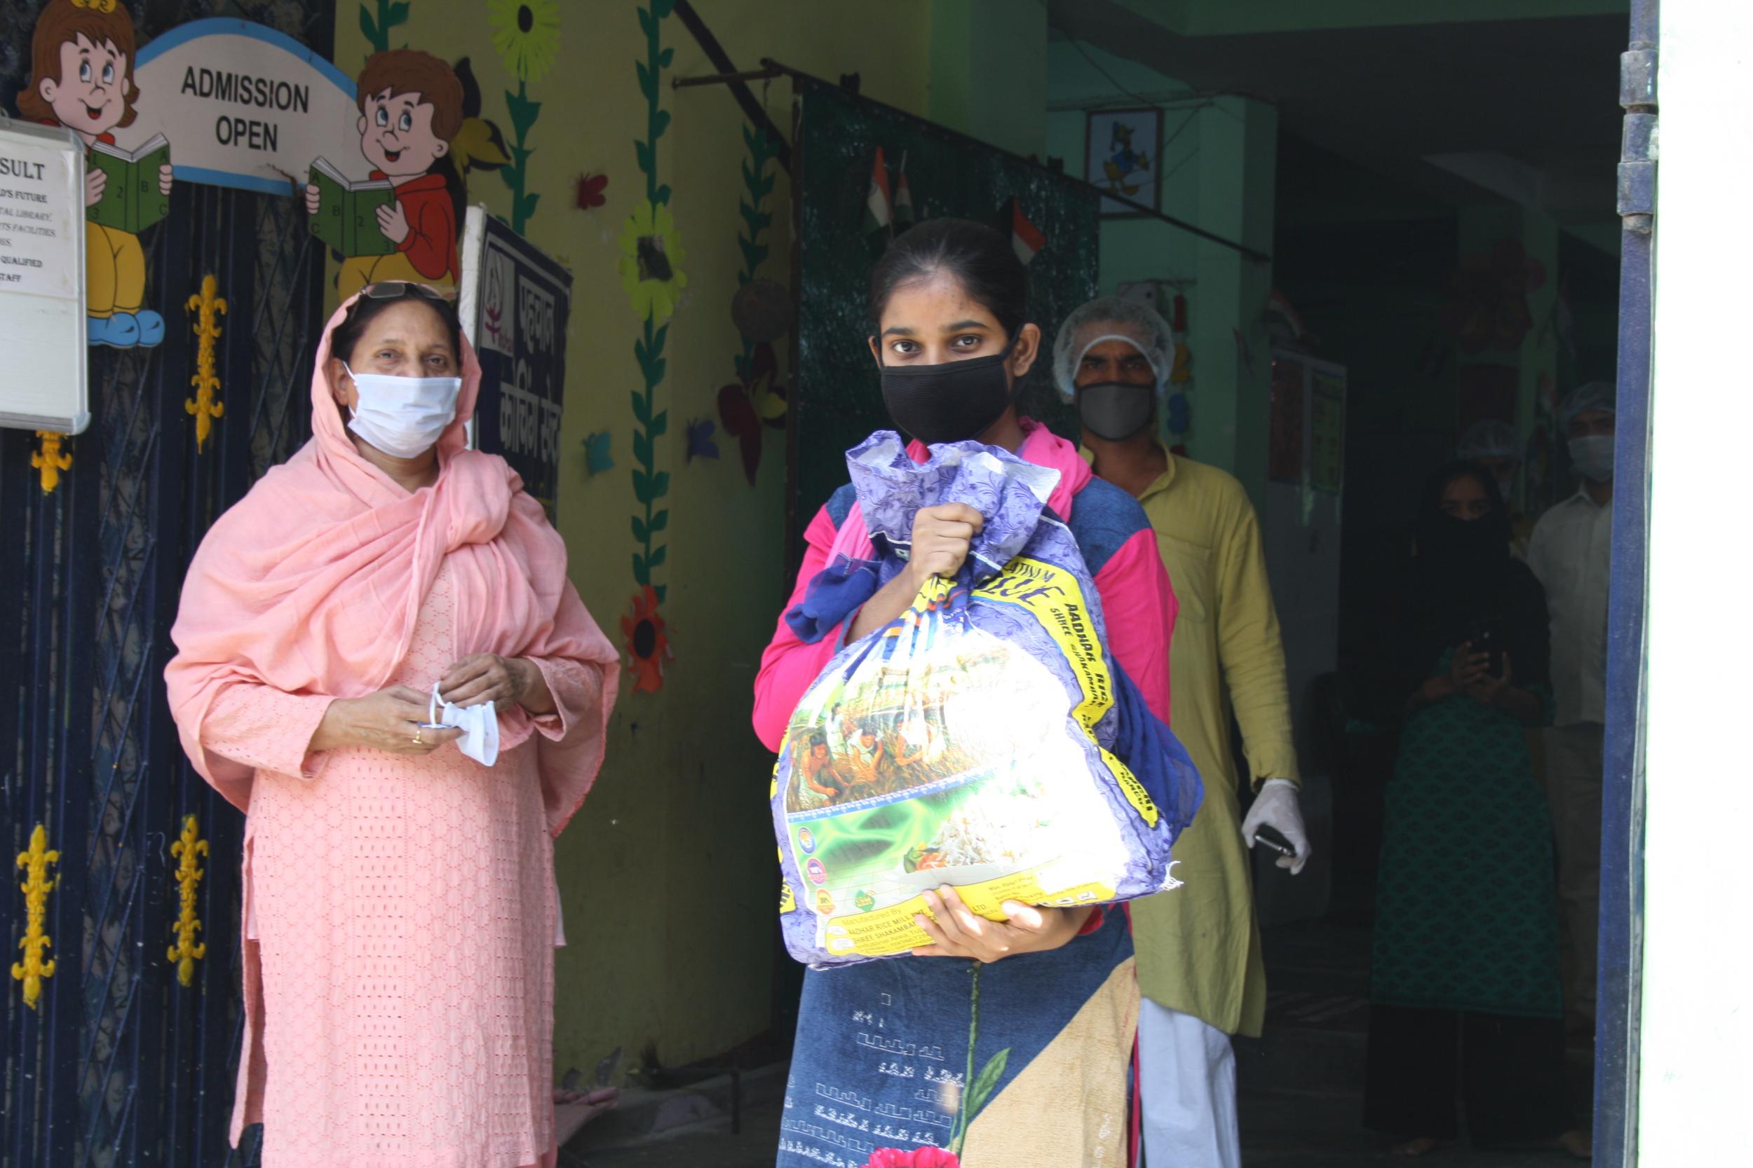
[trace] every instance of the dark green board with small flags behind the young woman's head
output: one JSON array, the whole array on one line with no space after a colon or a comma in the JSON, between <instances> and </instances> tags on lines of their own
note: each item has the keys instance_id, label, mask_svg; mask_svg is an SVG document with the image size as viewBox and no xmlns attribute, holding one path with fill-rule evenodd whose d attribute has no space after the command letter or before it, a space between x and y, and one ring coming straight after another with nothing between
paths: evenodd
<instances>
[{"instance_id":1,"label":"dark green board with small flags behind the young woman's head","mask_svg":"<svg viewBox=\"0 0 1753 1168\"><path fill-rule=\"evenodd\" d=\"M798 79L796 95L792 557L810 517L847 482L845 452L892 426L866 343L871 264L891 236L887 228L869 226L878 149L891 201L901 201L905 173L915 221L952 215L989 222L1027 256L1029 315L1041 326L1041 355L1018 403L1068 438L1076 438L1078 422L1052 389L1054 334L1066 313L1097 294L1099 254L1097 196L1083 182L838 86Z\"/></svg>"}]
</instances>

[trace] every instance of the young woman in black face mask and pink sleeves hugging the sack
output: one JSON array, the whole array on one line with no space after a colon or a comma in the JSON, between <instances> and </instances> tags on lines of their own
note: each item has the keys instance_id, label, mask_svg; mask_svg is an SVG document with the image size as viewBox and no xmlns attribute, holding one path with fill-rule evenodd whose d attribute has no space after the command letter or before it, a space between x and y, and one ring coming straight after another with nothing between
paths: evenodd
<instances>
[{"instance_id":1,"label":"young woman in black face mask and pink sleeves hugging the sack","mask_svg":"<svg viewBox=\"0 0 1753 1168\"><path fill-rule=\"evenodd\" d=\"M1155 534L1073 443L1017 413L1041 331L1010 242L969 221L919 224L871 273L871 319L884 399L915 462L929 457L922 443L978 440L1059 473L1048 511L1076 539L1108 627L1125 630L1111 657L1166 721L1176 604ZM850 485L815 515L787 613L847 546L843 527L862 522ZM922 508L906 569L861 608L812 639L780 618L756 681L768 748L834 653L906 613L933 576L954 576L980 527L969 506ZM929 946L808 972L778 1166L1129 1163L1138 986L1125 914L1006 902L1008 921L990 921L947 884L924 900L915 923Z\"/></svg>"}]
</instances>

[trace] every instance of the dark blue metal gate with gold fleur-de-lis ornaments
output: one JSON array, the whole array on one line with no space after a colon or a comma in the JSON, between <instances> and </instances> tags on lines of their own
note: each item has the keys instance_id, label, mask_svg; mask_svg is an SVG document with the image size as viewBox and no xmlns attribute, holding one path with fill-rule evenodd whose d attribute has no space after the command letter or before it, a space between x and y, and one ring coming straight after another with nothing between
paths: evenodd
<instances>
[{"instance_id":1,"label":"dark blue metal gate with gold fleur-de-lis ornaments","mask_svg":"<svg viewBox=\"0 0 1753 1168\"><path fill-rule=\"evenodd\" d=\"M324 0L133 7L142 40L223 7L331 47ZM30 19L7 23L0 96L30 60ZM0 1168L256 1159L254 1138L226 1142L242 816L186 763L163 667L202 534L309 436L323 254L291 198L172 198L142 240L165 341L91 350L93 422L60 454L0 431L0 921L18 963L0 977Z\"/></svg>"}]
</instances>

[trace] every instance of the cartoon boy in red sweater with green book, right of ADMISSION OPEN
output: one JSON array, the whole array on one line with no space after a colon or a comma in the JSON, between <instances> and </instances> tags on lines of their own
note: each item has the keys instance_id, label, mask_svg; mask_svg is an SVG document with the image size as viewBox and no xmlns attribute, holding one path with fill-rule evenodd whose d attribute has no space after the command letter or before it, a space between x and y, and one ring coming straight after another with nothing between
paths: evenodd
<instances>
[{"instance_id":1,"label":"cartoon boy in red sweater with green book, right of ADMISSION OPEN","mask_svg":"<svg viewBox=\"0 0 1753 1168\"><path fill-rule=\"evenodd\" d=\"M372 177L349 182L319 158L305 187L310 229L347 256L342 298L380 280L454 285L456 203L433 166L463 126L463 82L429 53L389 49L366 60L358 102Z\"/></svg>"}]
</instances>

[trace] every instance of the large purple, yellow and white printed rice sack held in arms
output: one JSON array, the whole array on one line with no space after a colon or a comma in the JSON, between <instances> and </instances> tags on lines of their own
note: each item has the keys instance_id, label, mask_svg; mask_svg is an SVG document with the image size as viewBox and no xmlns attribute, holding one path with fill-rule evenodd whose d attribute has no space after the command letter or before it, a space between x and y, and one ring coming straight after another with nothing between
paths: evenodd
<instances>
[{"instance_id":1,"label":"large purple, yellow and white printed rice sack held in arms","mask_svg":"<svg viewBox=\"0 0 1753 1168\"><path fill-rule=\"evenodd\" d=\"M841 648L791 718L771 793L791 954L831 967L931 944L913 914L941 884L990 919L1004 900L1173 886L1197 772L1106 651L1089 569L1047 510L1059 473L971 441L915 464L887 431L847 462L876 560L822 583L894 578L924 506L966 503L985 527L955 580Z\"/></svg>"}]
</instances>

